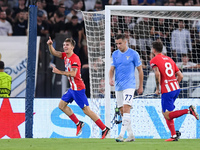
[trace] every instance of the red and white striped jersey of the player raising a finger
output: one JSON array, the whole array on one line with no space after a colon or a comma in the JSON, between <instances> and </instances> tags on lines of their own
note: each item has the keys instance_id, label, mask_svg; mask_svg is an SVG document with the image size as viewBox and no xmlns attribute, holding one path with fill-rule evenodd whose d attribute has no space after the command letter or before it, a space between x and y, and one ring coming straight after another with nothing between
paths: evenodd
<instances>
[{"instance_id":1,"label":"red and white striped jersey of the player raising a finger","mask_svg":"<svg viewBox=\"0 0 200 150\"><path fill-rule=\"evenodd\" d=\"M81 62L76 54L72 54L71 57L67 58L66 53L62 53L62 58L65 63L65 71L72 71L72 68L77 68L77 73L75 77L68 77L70 86L72 90L79 91L85 89L85 84L81 78Z\"/></svg>"}]
</instances>

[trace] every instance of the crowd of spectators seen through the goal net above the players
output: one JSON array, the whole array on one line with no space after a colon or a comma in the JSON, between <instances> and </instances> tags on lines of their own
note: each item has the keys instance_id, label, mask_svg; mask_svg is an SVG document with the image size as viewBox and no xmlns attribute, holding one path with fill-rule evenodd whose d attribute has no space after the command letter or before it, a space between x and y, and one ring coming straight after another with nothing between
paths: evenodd
<instances>
[{"instance_id":1,"label":"crowd of spectators seen through the goal net above the players","mask_svg":"<svg viewBox=\"0 0 200 150\"><path fill-rule=\"evenodd\" d=\"M181 62L182 56L187 56L192 62L200 63L200 21L112 16L112 22L111 51L116 50L116 34L125 34L128 46L139 52L144 68L153 57L153 41L162 42L163 54L175 62Z\"/></svg>"}]
</instances>

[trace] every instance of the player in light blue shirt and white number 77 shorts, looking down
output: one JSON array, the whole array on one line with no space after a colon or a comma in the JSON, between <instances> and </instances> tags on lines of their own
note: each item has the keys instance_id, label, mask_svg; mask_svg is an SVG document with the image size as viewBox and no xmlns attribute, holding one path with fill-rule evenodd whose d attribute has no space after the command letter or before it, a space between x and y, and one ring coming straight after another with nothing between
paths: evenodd
<instances>
[{"instance_id":1,"label":"player in light blue shirt and white number 77 shorts, looking down","mask_svg":"<svg viewBox=\"0 0 200 150\"><path fill-rule=\"evenodd\" d=\"M136 88L135 67L139 72L138 94L143 92L143 70L139 54L127 47L127 41L123 34L117 35L115 39L118 50L112 54L113 62L109 72L109 84L114 86L116 91L117 107L122 115L122 127L119 136L115 139L117 142L123 142L125 131L128 132L128 138L125 142L135 141L131 128L130 110L132 107L134 92ZM115 72L115 81L113 80Z\"/></svg>"}]
</instances>

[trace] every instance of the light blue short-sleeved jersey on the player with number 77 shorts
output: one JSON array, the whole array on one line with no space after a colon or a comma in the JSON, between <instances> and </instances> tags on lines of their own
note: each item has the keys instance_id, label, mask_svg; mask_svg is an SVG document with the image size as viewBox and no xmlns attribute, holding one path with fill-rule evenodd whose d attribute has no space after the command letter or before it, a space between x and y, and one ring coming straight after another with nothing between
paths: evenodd
<instances>
[{"instance_id":1,"label":"light blue short-sleeved jersey on the player with number 77 shorts","mask_svg":"<svg viewBox=\"0 0 200 150\"><path fill-rule=\"evenodd\" d=\"M135 89L135 67L142 65L138 52L128 48L123 53L118 49L113 52L112 59L111 65L115 67L115 90Z\"/></svg>"}]
</instances>

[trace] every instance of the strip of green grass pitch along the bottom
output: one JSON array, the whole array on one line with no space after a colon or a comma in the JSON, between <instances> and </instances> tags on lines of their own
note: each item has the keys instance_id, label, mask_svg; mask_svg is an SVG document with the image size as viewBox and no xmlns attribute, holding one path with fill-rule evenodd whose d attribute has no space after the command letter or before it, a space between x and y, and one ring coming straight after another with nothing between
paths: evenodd
<instances>
[{"instance_id":1,"label":"strip of green grass pitch along the bottom","mask_svg":"<svg viewBox=\"0 0 200 150\"><path fill-rule=\"evenodd\" d=\"M0 139L0 150L199 150L200 139L136 139L115 142L115 139Z\"/></svg>"}]
</instances>

